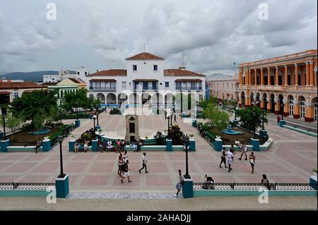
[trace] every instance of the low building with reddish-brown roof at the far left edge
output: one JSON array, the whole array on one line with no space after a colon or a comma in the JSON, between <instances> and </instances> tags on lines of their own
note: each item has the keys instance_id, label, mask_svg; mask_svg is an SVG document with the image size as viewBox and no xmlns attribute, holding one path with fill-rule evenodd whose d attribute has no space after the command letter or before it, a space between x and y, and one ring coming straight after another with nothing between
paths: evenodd
<instances>
[{"instance_id":1,"label":"low building with reddish-brown roof at the far left edge","mask_svg":"<svg viewBox=\"0 0 318 225\"><path fill-rule=\"evenodd\" d=\"M46 89L46 85L37 85L34 82L0 82L0 105L12 102L25 92Z\"/></svg>"}]
</instances>

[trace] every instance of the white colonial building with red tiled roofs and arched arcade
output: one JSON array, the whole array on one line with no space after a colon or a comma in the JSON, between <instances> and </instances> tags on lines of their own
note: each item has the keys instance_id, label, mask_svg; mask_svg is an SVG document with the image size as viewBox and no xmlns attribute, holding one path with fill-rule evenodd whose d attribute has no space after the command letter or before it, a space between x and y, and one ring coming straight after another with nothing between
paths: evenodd
<instances>
[{"instance_id":1,"label":"white colonial building with red tiled roofs and arched arcade","mask_svg":"<svg viewBox=\"0 0 318 225\"><path fill-rule=\"evenodd\" d=\"M172 104L177 96L183 96L182 101L189 97L198 101L204 98L206 82L204 75L187 71L185 66L165 69L165 59L147 52L127 58L126 69L98 71L78 78L86 81L91 95L104 106L163 107Z\"/></svg>"}]
</instances>

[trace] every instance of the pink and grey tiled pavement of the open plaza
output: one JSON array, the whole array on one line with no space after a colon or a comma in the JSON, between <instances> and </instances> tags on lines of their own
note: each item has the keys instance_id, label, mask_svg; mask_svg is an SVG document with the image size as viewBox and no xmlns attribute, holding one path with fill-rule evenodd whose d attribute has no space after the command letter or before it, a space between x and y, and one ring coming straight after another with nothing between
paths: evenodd
<instances>
[{"instance_id":1,"label":"pink and grey tiled pavement of the open plaza","mask_svg":"<svg viewBox=\"0 0 318 225\"><path fill-rule=\"evenodd\" d=\"M157 130L165 130L164 116L140 116L141 137L153 136ZM101 114L102 130L109 136L124 137L124 116ZM69 121L70 122L70 121ZM317 168L317 138L296 133L269 124L266 129L274 139L267 152L256 152L254 174L250 173L247 161L235 157L233 171L219 169L220 152L212 149L196 133L191 123L178 118L182 130L194 134L196 152L189 152L189 174L194 181L202 182L204 174L216 182L259 182L266 174L271 182L307 182L312 169ZM93 126L93 121L82 120L81 127L73 131L78 137ZM184 152L148 152L149 174L138 173L141 153L129 152L129 167L133 183L120 183L117 175L117 154L114 152L68 152L68 140L63 142L64 171L69 174L71 193L83 192L140 192L167 193L175 191L177 169L185 171ZM238 154L238 153L237 153ZM59 146L51 152L0 153L0 182L53 182L59 174Z\"/></svg>"}]
</instances>

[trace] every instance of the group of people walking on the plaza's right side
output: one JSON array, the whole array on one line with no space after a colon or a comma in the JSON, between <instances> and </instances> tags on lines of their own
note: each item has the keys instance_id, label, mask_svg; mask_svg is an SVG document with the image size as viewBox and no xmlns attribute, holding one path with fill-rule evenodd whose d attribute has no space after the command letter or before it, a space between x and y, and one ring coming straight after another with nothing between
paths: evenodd
<instances>
[{"instance_id":1,"label":"group of people walking on the plaza's right side","mask_svg":"<svg viewBox=\"0 0 318 225\"><path fill-rule=\"evenodd\" d=\"M244 144L244 142L240 142L239 140L235 140L235 145L240 148L241 150L241 156L240 160L242 160L243 155L245 155L245 160L247 160L247 152L248 152L248 147ZM228 168L228 172L232 171L232 162L234 162L234 155L235 155L235 147L234 145L231 145L230 150L226 152L225 147L223 147L223 150L221 151L221 161L220 161L220 168L222 167L222 164L224 164L225 168ZM226 159L228 159L228 166L226 166ZM249 154L249 164L251 165L252 168L252 174L254 174L254 167L255 167L255 155L254 152L251 152Z\"/></svg>"}]
</instances>

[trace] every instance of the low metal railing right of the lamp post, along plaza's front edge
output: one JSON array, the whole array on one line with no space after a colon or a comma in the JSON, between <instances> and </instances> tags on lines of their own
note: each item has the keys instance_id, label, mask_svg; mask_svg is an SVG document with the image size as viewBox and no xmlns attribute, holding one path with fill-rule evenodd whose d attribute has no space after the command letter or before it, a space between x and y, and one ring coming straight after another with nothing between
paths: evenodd
<instances>
[{"instance_id":1,"label":"low metal railing right of the lamp post, along plaza's front edge","mask_svg":"<svg viewBox=\"0 0 318 225\"><path fill-rule=\"evenodd\" d=\"M313 183L270 183L268 186L262 183L193 183L193 190L317 190L317 184Z\"/></svg>"}]
</instances>

